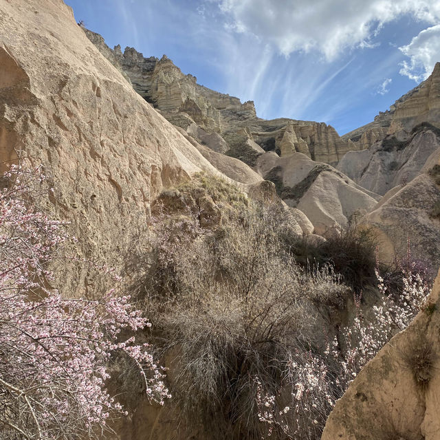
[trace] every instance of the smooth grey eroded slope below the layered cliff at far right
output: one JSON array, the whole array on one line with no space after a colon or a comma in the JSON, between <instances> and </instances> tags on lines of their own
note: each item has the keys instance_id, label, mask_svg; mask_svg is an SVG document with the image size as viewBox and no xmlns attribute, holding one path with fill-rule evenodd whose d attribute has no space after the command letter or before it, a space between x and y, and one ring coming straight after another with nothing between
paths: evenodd
<instances>
[{"instance_id":1,"label":"smooth grey eroded slope below the layered cliff at far right","mask_svg":"<svg viewBox=\"0 0 440 440\"><path fill-rule=\"evenodd\" d=\"M349 151L337 168L360 186L384 195L421 173L426 160L440 148L440 130L423 123L407 137L387 135L362 151Z\"/></svg>"}]
</instances>

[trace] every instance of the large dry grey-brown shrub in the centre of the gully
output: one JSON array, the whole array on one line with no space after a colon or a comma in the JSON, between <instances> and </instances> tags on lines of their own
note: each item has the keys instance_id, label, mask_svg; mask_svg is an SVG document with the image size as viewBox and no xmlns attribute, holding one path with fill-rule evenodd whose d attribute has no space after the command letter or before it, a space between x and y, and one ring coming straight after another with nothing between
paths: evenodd
<instances>
[{"instance_id":1,"label":"large dry grey-brown shrub in the centre of the gully","mask_svg":"<svg viewBox=\"0 0 440 440\"><path fill-rule=\"evenodd\" d=\"M271 428L274 438L289 438L282 411L300 366L324 357L314 304L347 295L331 271L296 264L282 239L291 222L280 208L261 206L236 207L214 230L201 228L197 216L156 221L154 257L138 292L159 354L174 353L171 386L183 416L213 438L266 436L259 392L276 396L274 413L284 424ZM309 406L290 417L297 439L320 437L331 408L327 401Z\"/></svg>"}]
</instances>

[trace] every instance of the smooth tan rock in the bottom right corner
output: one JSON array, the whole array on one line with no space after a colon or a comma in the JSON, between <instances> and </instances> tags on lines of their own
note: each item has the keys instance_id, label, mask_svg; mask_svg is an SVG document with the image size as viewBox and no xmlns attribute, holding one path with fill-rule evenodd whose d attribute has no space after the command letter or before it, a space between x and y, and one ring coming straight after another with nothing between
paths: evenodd
<instances>
[{"instance_id":1,"label":"smooth tan rock in the bottom right corner","mask_svg":"<svg viewBox=\"0 0 440 440\"><path fill-rule=\"evenodd\" d=\"M336 402L322 440L439 438L439 294L440 272L427 307Z\"/></svg>"}]
</instances>

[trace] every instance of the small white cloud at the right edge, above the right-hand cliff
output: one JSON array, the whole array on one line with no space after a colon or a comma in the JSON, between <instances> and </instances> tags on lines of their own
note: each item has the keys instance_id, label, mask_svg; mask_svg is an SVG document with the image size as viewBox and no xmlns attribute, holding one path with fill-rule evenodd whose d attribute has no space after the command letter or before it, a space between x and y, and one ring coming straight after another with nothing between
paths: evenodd
<instances>
[{"instance_id":1,"label":"small white cloud at the right edge, above the right-hand cliff","mask_svg":"<svg viewBox=\"0 0 440 440\"><path fill-rule=\"evenodd\" d=\"M401 63L399 73L419 83L430 76L435 63L440 61L440 25L422 30L411 43L399 47L410 59Z\"/></svg>"}]
</instances>

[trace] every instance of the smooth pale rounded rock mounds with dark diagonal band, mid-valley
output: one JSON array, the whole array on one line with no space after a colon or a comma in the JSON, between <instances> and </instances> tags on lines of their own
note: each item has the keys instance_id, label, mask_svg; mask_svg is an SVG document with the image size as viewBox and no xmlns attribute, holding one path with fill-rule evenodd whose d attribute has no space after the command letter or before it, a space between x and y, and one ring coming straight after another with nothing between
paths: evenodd
<instances>
[{"instance_id":1,"label":"smooth pale rounded rock mounds with dark diagonal band, mid-valley","mask_svg":"<svg viewBox=\"0 0 440 440\"><path fill-rule=\"evenodd\" d=\"M288 206L307 216L320 235L345 228L353 214L369 212L380 199L332 166L314 162L302 153L287 157L265 153L258 158L256 169L274 182Z\"/></svg>"}]
</instances>

